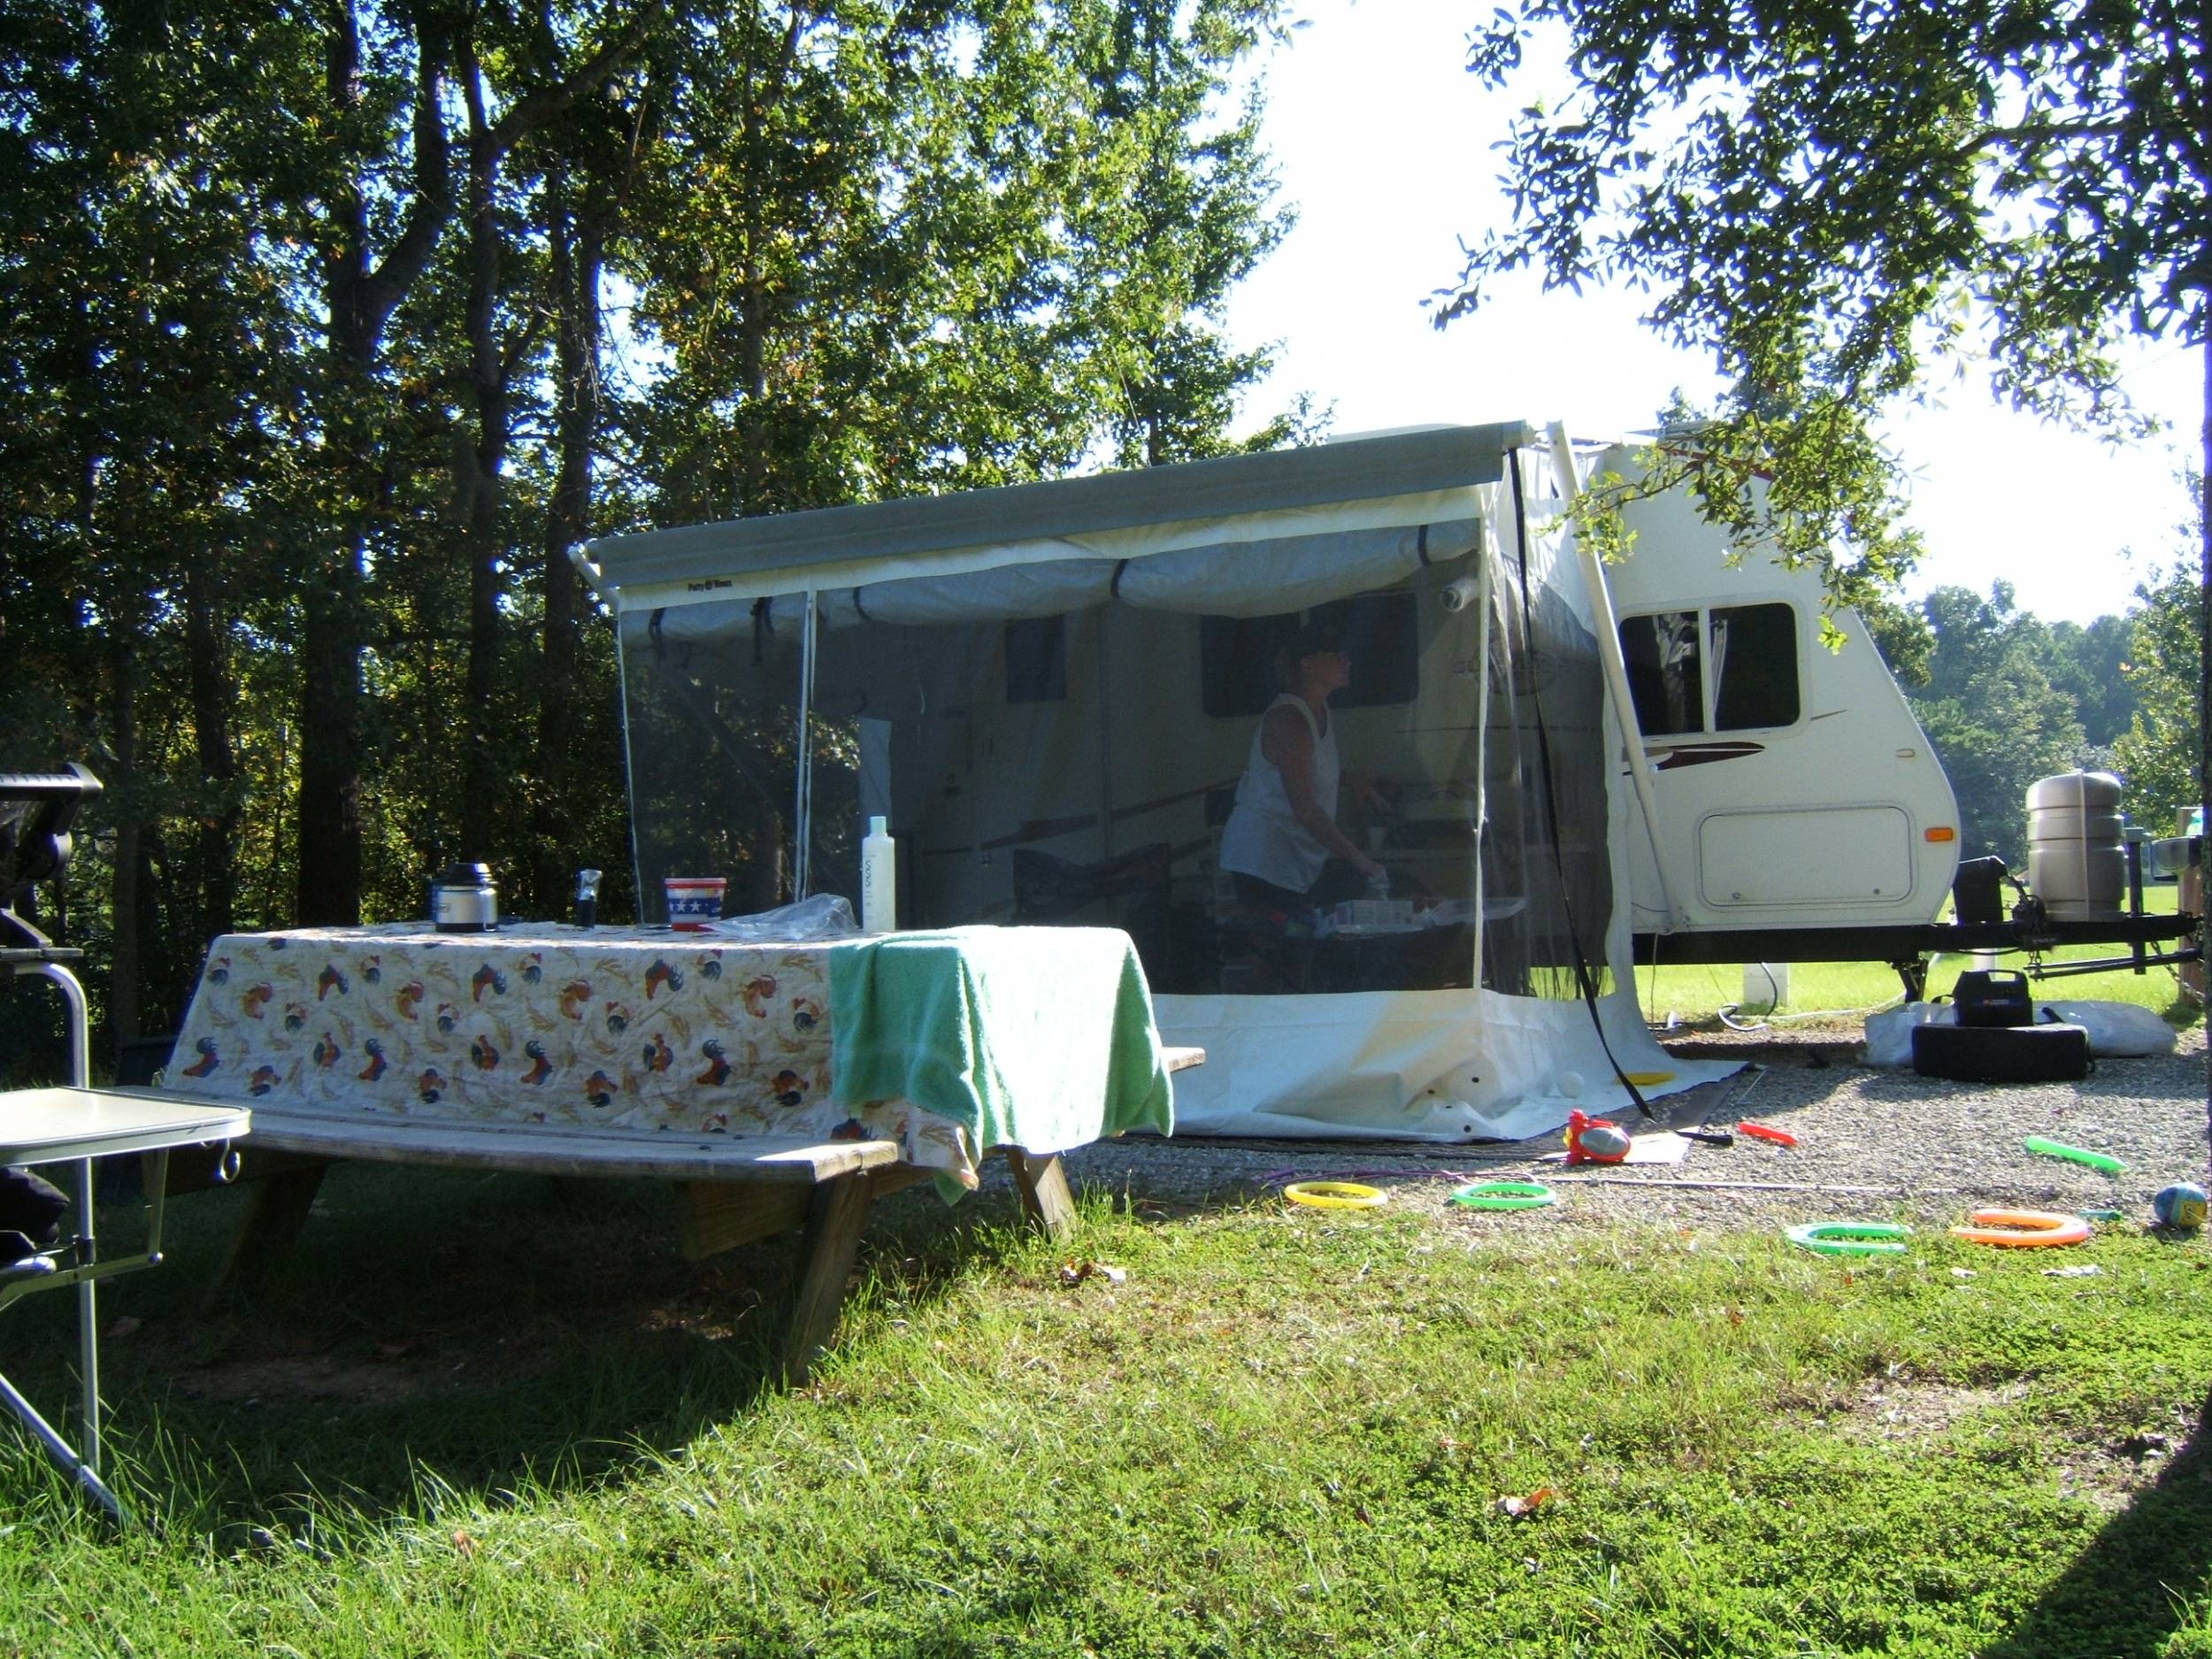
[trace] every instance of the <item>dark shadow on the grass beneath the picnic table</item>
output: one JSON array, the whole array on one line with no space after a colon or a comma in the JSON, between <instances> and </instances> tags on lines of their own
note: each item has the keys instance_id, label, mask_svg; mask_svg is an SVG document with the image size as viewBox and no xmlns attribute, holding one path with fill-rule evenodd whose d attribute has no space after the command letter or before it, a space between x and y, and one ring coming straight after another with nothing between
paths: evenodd
<instances>
[{"instance_id":1,"label":"dark shadow on the grass beneath the picnic table","mask_svg":"<svg viewBox=\"0 0 2212 1659\"><path fill-rule=\"evenodd\" d=\"M1011 1248L1011 1199L905 1199L869 1219L841 1340ZM799 1237L684 1261L661 1186L338 1166L268 1287L201 1312L243 1201L173 1203L168 1261L100 1303L124 1482L195 1531L604 1484L779 1387ZM73 1400L73 1298L13 1321L11 1376Z\"/></svg>"}]
</instances>

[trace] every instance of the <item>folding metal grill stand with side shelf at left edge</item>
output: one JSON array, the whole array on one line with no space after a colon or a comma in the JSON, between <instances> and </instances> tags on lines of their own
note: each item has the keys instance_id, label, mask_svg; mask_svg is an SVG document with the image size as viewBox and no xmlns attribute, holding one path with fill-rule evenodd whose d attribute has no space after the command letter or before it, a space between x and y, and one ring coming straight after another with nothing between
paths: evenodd
<instances>
[{"instance_id":1,"label":"folding metal grill stand with side shelf at left edge","mask_svg":"<svg viewBox=\"0 0 2212 1659\"><path fill-rule=\"evenodd\" d=\"M175 1146L230 1141L246 1133L239 1106L117 1095L91 1086L91 1048L84 987L71 962L84 953L55 945L15 905L35 885L69 865L69 823L77 805L100 794L100 779L82 765L62 774L0 774L0 967L38 973L60 987L69 1006L69 1086L18 1088L0 1095L0 1164L75 1166L75 1232L51 1245L33 1243L0 1265L0 1312L40 1290L77 1290L77 1378L82 1383L82 1451L38 1413L22 1391L0 1376L0 1405L46 1449L46 1455L117 1522L122 1500L100 1478L100 1305L97 1281L153 1267L161 1261L161 1206L168 1190L168 1152ZM119 1152L150 1155L146 1175L146 1245L135 1256L100 1259L93 1166ZM219 1159L223 1164L226 1159Z\"/></svg>"}]
</instances>

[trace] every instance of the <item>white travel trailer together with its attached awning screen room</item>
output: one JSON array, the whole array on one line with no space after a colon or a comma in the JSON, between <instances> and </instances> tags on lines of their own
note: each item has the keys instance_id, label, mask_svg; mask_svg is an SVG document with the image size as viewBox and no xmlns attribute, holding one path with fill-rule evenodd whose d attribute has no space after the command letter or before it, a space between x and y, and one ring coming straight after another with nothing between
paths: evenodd
<instances>
[{"instance_id":1,"label":"white travel trailer together with its attached awning screen room","mask_svg":"<svg viewBox=\"0 0 2212 1659\"><path fill-rule=\"evenodd\" d=\"M1730 571L1666 498L1624 564L1575 546L1568 493L1628 467L1440 427L602 538L637 891L858 896L880 816L900 927L1135 938L1161 1035L1210 1055L1181 1133L1524 1135L1701 1082L1637 942L1931 927L1955 810L1863 630L1820 646L1812 575ZM1314 628L1385 878L1285 905L1223 836Z\"/></svg>"}]
</instances>

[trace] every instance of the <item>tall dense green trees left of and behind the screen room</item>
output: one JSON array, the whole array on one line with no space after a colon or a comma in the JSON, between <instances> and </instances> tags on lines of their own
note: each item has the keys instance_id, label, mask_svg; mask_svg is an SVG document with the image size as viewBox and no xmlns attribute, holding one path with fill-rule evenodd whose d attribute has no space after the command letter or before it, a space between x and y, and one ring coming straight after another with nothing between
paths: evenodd
<instances>
[{"instance_id":1,"label":"tall dense green trees left of and behind the screen room","mask_svg":"<svg viewBox=\"0 0 2212 1659\"><path fill-rule=\"evenodd\" d=\"M571 542L1221 449L1279 11L9 7L0 763L108 783L111 1035L456 856L622 916Z\"/></svg>"}]
</instances>

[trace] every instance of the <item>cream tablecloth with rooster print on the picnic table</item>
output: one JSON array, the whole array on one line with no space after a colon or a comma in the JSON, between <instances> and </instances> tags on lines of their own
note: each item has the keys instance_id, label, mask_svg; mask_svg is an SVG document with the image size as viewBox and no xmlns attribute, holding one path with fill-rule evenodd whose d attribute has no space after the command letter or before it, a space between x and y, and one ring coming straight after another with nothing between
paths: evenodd
<instances>
[{"instance_id":1,"label":"cream tablecloth with rooster print on the picnic table","mask_svg":"<svg viewBox=\"0 0 2212 1659\"><path fill-rule=\"evenodd\" d=\"M830 945L670 929L226 933L164 1086L332 1113L889 1139L975 1186L960 1126L830 1099Z\"/></svg>"}]
</instances>

